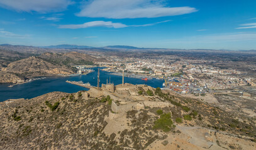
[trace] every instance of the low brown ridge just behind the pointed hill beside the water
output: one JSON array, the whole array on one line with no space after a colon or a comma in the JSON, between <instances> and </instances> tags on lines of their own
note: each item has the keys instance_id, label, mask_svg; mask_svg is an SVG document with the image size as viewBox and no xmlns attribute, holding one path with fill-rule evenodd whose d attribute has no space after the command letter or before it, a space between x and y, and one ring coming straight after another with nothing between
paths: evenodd
<instances>
[{"instance_id":1,"label":"low brown ridge just behind the pointed hill beside the water","mask_svg":"<svg viewBox=\"0 0 256 150\"><path fill-rule=\"evenodd\" d=\"M39 56L39 58L44 59L45 61L49 61L57 64L64 65L92 65L93 62L106 61L105 59L98 59L87 54L70 52L70 53L44 53Z\"/></svg>"}]
</instances>

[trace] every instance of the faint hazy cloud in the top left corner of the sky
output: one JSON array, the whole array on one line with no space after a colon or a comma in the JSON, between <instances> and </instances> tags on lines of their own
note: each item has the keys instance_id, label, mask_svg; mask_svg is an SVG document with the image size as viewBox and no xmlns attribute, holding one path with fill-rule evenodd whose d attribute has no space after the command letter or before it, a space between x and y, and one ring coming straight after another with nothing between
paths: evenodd
<instances>
[{"instance_id":1,"label":"faint hazy cloud in the top left corner of the sky","mask_svg":"<svg viewBox=\"0 0 256 150\"><path fill-rule=\"evenodd\" d=\"M1 0L0 6L6 9L14 9L16 11L61 11L70 4L70 0Z\"/></svg>"}]
</instances>

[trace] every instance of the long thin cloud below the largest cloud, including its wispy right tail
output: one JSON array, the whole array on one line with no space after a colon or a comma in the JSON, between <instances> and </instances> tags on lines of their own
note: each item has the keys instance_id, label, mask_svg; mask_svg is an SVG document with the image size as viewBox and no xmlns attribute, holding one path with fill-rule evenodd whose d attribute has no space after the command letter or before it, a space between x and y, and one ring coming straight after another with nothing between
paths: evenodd
<instances>
[{"instance_id":1,"label":"long thin cloud below the largest cloud, including its wispy right tail","mask_svg":"<svg viewBox=\"0 0 256 150\"><path fill-rule=\"evenodd\" d=\"M154 22L151 24L141 24L141 25L126 25L120 22L114 23L112 21L91 21L86 22L84 24L65 24L65 25L59 25L58 27L61 29L81 29L81 28L87 28L87 27L109 27L109 28L123 28L123 27L143 27L143 26L154 26L156 24L169 22L167 21L161 21L161 22Z\"/></svg>"}]
</instances>

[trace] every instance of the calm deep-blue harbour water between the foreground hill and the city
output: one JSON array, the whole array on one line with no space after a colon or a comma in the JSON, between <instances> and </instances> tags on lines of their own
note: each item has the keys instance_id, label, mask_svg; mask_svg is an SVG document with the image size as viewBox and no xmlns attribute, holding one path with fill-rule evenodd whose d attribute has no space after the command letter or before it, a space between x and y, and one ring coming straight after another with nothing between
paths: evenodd
<instances>
[{"instance_id":1,"label":"calm deep-blue harbour water between the foreground hill and the city","mask_svg":"<svg viewBox=\"0 0 256 150\"><path fill-rule=\"evenodd\" d=\"M82 76L69 76L69 77L49 77L46 79L40 79L32 81L31 83L19 84L12 88L8 88L9 84L0 84L0 101L6 101L7 99L18 99L18 98L35 98L42 94L50 93L53 91L61 91L65 93L76 93L81 90L88 90L81 86L75 86L74 84L66 83L65 81L83 81L84 83L89 82L92 86L97 86L97 68L93 73L82 75ZM122 77L108 74L106 71L100 71L100 85L106 84L106 79L111 77L111 83L121 84ZM153 88L161 87L164 80L152 79L143 81L142 79L128 78L125 77L125 83L131 84L147 84Z\"/></svg>"}]
</instances>

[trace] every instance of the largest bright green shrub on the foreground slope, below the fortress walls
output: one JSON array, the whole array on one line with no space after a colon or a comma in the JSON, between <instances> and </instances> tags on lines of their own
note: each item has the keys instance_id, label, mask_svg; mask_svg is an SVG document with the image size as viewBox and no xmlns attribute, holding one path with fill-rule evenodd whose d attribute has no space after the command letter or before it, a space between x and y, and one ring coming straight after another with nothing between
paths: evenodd
<instances>
[{"instance_id":1,"label":"largest bright green shrub on the foreground slope, below the fortress walls","mask_svg":"<svg viewBox=\"0 0 256 150\"><path fill-rule=\"evenodd\" d=\"M170 113L168 114L162 114L157 121L155 121L155 125L153 126L153 129L162 129L164 132L170 131L172 128L172 119Z\"/></svg>"}]
</instances>

